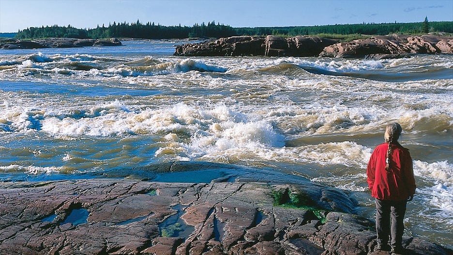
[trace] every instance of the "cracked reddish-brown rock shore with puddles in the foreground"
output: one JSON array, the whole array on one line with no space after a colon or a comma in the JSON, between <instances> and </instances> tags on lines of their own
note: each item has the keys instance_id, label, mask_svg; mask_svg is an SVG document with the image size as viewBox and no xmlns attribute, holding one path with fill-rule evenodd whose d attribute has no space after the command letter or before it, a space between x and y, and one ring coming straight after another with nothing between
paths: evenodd
<instances>
[{"instance_id":1,"label":"cracked reddish-brown rock shore with puddles in the foreground","mask_svg":"<svg viewBox=\"0 0 453 255\"><path fill-rule=\"evenodd\" d=\"M182 175L190 182L168 181ZM4 182L0 254L387 254L374 252L374 223L354 208L346 192L299 176L209 162ZM421 238L404 247L453 254Z\"/></svg>"}]
</instances>

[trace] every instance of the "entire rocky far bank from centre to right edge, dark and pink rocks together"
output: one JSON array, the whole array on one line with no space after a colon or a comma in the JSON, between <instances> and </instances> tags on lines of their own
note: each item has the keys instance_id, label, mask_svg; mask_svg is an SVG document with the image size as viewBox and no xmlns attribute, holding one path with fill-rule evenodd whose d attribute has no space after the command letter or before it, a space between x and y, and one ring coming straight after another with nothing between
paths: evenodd
<instances>
[{"instance_id":1,"label":"entire rocky far bank from centre to right edge, dark and pink rocks together","mask_svg":"<svg viewBox=\"0 0 453 255\"><path fill-rule=\"evenodd\" d=\"M397 58L408 54L453 54L453 37L393 34L350 42L296 36L234 36L178 46L176 56L292 56Z\"/></svg>"}]
</instances>

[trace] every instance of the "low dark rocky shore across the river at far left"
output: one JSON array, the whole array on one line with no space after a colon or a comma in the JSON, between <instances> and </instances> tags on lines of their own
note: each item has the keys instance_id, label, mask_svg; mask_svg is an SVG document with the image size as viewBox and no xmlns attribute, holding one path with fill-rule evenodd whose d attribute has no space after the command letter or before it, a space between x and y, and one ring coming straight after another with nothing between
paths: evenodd
<instances>
[{"instance_id":1,"label":"low dark rocky shore across the river at far left","mask_svg":"<svg viewBox=\"0 0 453 255\"><path fill-rule=\"evenodd\" d=\"M0 49L18 48L81 48L91 46L120 46L121 42L117 38L108 40L98 39L76 39L76 38L50 38L33 41L6 39L0 40Z\"/></svg>"}]
</instances>

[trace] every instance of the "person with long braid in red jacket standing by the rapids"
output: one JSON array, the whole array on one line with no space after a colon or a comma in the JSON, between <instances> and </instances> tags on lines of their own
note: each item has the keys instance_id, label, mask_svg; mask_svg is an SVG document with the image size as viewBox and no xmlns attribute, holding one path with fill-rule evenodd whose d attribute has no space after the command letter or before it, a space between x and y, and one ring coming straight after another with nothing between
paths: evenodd
<instances>
[{"instance_id":1,"label":"person with long braid in red jacket standing by the rapids","mask_svg":"<svg viewBox=\"0 0 453 255\"><path fill-rule=\"evenodd\" d=\"M402 130L398 123L387 125L385 143L375 148L366 170L368 187L376 198L377 249L397 254L404 250L404 214L416 189L409 150L398 143Z\"/></svg>"}]
</instances>

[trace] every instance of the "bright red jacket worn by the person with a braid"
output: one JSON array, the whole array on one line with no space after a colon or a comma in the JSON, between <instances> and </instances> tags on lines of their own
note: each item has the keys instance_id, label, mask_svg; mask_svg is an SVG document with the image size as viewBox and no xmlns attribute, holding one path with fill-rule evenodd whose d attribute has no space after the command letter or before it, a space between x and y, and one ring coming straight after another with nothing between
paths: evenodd
<instances>
[{"instance_id":1,"label":"bright red jacket worn by the person with a braid","mask_svg":"<svg viewBox=\"0 0 453 255\"><path fill-rule=\"evenodd\" d=\"M414 170L409 150L400 144L392 144L390 172L385 170L385 156L389 143L377 145L371 154L366 169L368 187L371 195L381 200L408 200L415 194Z\"/></svg>"}]
</instances>

